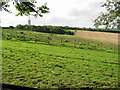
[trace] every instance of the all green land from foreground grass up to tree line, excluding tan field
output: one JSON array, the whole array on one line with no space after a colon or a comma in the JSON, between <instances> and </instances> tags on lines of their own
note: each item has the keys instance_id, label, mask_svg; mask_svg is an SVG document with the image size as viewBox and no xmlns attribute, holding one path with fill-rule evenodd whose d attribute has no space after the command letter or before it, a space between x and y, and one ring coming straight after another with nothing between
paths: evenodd
<instances>
[{"instance_id":1,"label":"all green land from foreground grass up to tree line, excluding tan field","mask_svg":"<svg viewBox=\"0 0 120 90\"><path fill-rule=\"evenodd\" d=\"M34 88L118 87L117 45L19 30L4 30L2 44L3 83Z\"/></svg>"}]
</instances>

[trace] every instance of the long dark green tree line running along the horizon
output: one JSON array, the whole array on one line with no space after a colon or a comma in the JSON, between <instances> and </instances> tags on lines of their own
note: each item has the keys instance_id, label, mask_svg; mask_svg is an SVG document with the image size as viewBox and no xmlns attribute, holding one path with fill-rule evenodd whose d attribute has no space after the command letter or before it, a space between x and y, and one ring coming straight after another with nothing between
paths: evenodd
<instances>
[{"instance_id":1,"label":"long dark green tree line running along the horizon","mask_svg":"<svg viewBox=\"0 0 120 90\"><path fill-rule=\"evenodd\" d=\"M36 32L44 33L55 33L55 34L67 34L74 35L75 30L85 30L85 31L99 31L99 32L111 32L120 33L118 29L104 29L104 28L80 28L80 27L69 27L69 26L35 26L35 25L17 25L16 27L2 27L3 29L20 29L20 30L31 30ZM73 31L72 31L73 30Z\"/></svg>"}]
</instances>

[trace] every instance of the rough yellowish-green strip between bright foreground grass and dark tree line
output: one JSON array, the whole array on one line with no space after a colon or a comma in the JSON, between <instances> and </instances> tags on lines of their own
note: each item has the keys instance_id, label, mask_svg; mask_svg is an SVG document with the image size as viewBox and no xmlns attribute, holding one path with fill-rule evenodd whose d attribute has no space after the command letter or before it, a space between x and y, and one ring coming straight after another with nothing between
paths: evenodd
<instances>
[{"instance_id":1,"label":"rough yellowish-green strip between bright foreground grass and dark tree line","mask_svg":"<svg viewBox=\"0 0 120 90\"><path fill-rule=\"evenodd\" d=\"M41 33L26 30L3 29L2 39L17 41L36 41L52 45L62 45L77 48L91 48L96 50L116 51L118 45L99 40L80 38L73 35ZM118 51L118 50L117 50Z\"/></svg>"}]
</instances>

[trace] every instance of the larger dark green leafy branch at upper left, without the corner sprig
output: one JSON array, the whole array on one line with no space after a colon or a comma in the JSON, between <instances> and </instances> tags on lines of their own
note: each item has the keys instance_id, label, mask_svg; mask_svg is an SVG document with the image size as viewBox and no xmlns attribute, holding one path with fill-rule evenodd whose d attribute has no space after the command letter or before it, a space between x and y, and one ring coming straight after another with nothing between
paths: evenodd
<instances>
[{"instance_id":1,"label":"larger dark green leafy branch at upper left, without the corner sprig","mask_svg":"<svg viewBox=\"0 0 120 90\"><path fill-rule=\"evenodd\" d=\"M33 3L31 2L21 2L21 3L17 3L17 5L15 5L16 9L19 11L18 15L30 15L31 12L34 12L35 14L33 16L37 17L40 16L42 17L42 13L48 13L49 12L49 8L45 5L41 6L41 7L36 7ZM37 8L37 10L36 10Z\"/></svg>"}]
</instances>

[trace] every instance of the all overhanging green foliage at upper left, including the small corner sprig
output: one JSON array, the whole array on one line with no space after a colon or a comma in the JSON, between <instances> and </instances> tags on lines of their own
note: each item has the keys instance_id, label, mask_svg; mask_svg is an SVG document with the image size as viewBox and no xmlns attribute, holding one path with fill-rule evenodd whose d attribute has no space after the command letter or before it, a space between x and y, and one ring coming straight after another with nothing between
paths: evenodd
<instances>
[{"instance_id":1,"label":"all overhanging green foliage at upper left, including the small corner sprig","mask_svg":"<svg viewBox=\"0 0 120 90\"><path fill-rule=\"evenodd\" d=\"M13 5L15 6L16 10L18 11L18 15L25 15L25 16L40 16L42 17L43 14L48 13L49 12L49 8L46 6L46 4L37 7L36 6L36 1L35 0L11 0L13 2ZM1 2L0 1L0 9L3 9L9 13L12 13L11 10L9 10L8 8L10 7L9 3L6 2Z\"/></svg>"}]
</instances>

